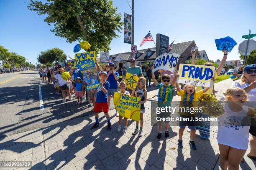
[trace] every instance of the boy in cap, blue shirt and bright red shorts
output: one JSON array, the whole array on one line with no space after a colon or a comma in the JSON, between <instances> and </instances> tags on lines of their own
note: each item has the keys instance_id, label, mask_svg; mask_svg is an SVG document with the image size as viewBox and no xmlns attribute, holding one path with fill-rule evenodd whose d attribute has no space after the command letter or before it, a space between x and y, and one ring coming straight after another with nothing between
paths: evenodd
<instances>
[{"instance_id":1,"label":"boy in cap, blue shirt and bright red shorts","mask_svg":"<svg viewBox=\"0 0 256 170\"><path fill-rule=\"evenodd\" d=\"M94 130L99 126L99 113L104 112L107 121L108 128L107 130L111 130L110 117L108 114L108 90L109 90L109 82L106 81L107 72L101 71L100 75L100 87L97 88L96 91L96 102L94 107L95 112L95 124L92 126L91 130Z\"/></svg>"}]
</instances>

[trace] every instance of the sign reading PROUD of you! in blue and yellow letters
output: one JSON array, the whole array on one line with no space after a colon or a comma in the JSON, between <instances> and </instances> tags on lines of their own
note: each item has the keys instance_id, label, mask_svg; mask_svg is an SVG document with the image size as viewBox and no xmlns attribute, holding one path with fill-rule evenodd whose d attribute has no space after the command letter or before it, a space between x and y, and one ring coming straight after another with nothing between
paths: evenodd
<instances>
[{"instance_id":1,"label":"sign reading PROUD of you! in blue and yellow letters","mask_svg":"<svg viewBox=\"0 0 256 170\"><path fill-rule=\"evenodd\" d=\"M205 65L179 65L179 83L197 85L203 87L211 86L211 78L215 67Z\"/></svg>"}]
</instances>

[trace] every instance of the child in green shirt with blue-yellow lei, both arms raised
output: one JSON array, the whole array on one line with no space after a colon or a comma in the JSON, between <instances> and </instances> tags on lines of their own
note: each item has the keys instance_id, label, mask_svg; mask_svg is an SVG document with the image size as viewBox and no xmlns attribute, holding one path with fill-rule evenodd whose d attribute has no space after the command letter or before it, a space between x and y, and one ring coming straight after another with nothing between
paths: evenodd
<instances>
[{"instance_id":1,"label":"child in green shirt with blue-yellow lei, both arms raised","mask_svg":"<svg viewBox=\"0 0 256 170\"><path fill-rule=\"evenodd\" d=\"M154 66L153 66L154 67ZM152 70L153 70L152 67ZM177 74L177 71L175 71L175 74ZM166 107L166 106L171 106L172 103L172 89L174 88L177 76L174 77L172 80L172 84L169 84L171 77L168 74L162 75L162 81L161 83L157 82L156 77L154 72L152 72L152 79L154 82L154 85L159 89L158 92L158 107ZM160 109L161 110L161 109ZM159 117L161 118L167 118L170 117L171 113L170 112L161 112L159 114ZM169 139L169 133L168 133L168 128L169 128L169 121L165 121L165 128L164 128L164 133L165 133L165 138ZM157 140L161 140L162 138L162 121L158 121L158 134L157 134Z\"/></svg>"}]
</instances>

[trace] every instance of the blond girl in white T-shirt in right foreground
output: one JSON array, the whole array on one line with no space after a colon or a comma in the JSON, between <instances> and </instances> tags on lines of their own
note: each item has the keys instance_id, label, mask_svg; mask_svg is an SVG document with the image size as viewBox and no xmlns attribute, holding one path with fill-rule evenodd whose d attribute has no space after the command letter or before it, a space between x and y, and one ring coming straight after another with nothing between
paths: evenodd
<instances>
[{"instance_id":1,"label":"blond girl in white T-shirt in right foreground","mask_svg":"<svg viewBox=\"0 0 256 170\"><path fill-rule=\"evenodd\" d=\"M250 121L245 120L252 110L244 105L246 100L246 91L239 87L231 87L225 94L225 113L219 117L217 135L222 170L238 170L248 148Z\"/></svg>"}]
</instances>

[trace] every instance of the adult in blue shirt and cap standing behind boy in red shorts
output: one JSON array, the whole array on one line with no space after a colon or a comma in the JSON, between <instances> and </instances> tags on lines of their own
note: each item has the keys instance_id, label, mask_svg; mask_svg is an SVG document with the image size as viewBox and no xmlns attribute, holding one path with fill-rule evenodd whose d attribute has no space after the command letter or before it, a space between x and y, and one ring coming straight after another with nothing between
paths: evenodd
<instances>
[{"instance_id":1,"label":"adult in blue shirt and cap standing behind boy in red shorts","mask_svg":"<svg viewBox=\"0 0 256 170\"><path fill-rule=\"evenodd\" d=\"M107 81L109 82L108 90L108 108L110 105L111 96L114 97L115 92L118 92L118 79L119 74L114 70L115 64L113 62L108 63L109 71L107 71ZM115 110L115 116L119 116L117 110Z\"/></svg>"}]
</instances>

